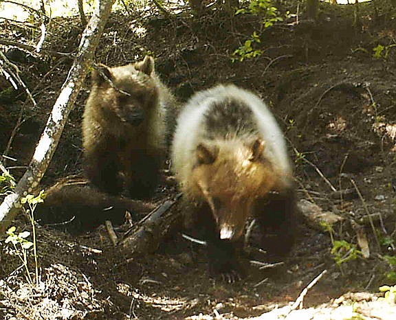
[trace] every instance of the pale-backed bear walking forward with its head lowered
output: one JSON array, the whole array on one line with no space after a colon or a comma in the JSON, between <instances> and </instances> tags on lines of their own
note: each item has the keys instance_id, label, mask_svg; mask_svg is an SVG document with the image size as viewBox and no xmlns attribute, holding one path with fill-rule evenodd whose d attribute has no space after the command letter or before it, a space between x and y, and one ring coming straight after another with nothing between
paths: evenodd
<instances>
[{"instance_id":1,"label":"pale-backed bear walking forward with its head lowered","mask_svg":"<svg viewBox=\"0 0 396 320\"><path fill-rule=\"evenodd\" d=\"M262 249L292 247L292 167L283 134L256 95L234 85L193 95L177 119L172 162L212 275L229 282L242 275L235 249L250 217Z\"/></svg>"}]
</instances>

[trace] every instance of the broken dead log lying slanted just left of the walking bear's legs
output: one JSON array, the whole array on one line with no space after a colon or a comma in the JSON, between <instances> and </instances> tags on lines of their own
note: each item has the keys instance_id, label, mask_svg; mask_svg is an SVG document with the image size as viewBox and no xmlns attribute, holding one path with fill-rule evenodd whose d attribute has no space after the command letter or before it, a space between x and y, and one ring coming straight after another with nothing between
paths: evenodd
<instances>
[{"instance_id":1,"label":"broken dead log lying slanted just left of the walking bear's legs","mask_svg":"<svg viewBox=\"0 0 396 320\"><path fill-rule=\"evenodd\" d=\"M180 196L165 201L126 231L118 242L120 249L128 254L155 252L162 240L181 225L181 211L177 208L170 210Z\"/></svg>"}]
</instances>

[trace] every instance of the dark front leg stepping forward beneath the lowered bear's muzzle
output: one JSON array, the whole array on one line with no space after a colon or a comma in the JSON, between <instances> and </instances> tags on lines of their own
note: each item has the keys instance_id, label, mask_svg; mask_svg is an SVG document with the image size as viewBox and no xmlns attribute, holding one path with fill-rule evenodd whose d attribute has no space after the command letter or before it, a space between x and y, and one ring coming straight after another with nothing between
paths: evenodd
<instances>
[{"instance_id":1,"label":"dark front leg stepping forward beneath the lowered bear's muzzle","mask_svg":"<svg viewBox=\"0 0 396 320\"><path fill-rule=\"evenodd\" d=\"M190 206L192 207L192 205ZM188 209L192 209L188 207ZM221 240L217 223L206 203L192 209L197 236L206 241L209 272L212 277L221 277L226 282L234 282L243 277L243 270L236 253L236 244Z\"/></svg>"}]
</instances>

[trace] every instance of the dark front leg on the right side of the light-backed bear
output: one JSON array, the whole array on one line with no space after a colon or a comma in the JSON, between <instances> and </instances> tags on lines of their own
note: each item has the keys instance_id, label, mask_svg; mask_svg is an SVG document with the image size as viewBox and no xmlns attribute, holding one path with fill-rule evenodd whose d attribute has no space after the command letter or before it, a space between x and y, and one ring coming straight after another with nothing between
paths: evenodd
<instances>
[{"instance_id":1,"label":"dark front leg on the right side of the light-backed bear","mask_svg":"<svg viewBox=\"0 0 396 320\"><path fill-rule=\"evenodd\" d=\"M253 214L256 223L252 244L269 256L282 256L292 249L296 233L296 198L294 190L274 192L258 199Z\"/></svg>"}]
</instances>

